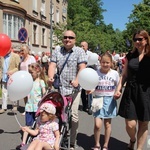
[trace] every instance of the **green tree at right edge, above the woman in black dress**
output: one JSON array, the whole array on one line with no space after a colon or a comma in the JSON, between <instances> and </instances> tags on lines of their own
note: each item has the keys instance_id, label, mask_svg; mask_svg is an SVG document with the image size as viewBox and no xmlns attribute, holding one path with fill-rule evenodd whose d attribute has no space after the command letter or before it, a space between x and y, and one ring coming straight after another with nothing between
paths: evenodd
<instances>
[{"instance_id":1,"label":"green tree at right edge, above the woman in black dress","mask_svg":"<svg viewBox=\"0 0 150 150\"><path fill-rule=\"evenodd\" d=\"M130 14L129 22L126 23L127 30L122 32L123 36L123 49L129 51L132 49L132 35L138 29L145 29L150 32L150 1L143 0L139 4L133 4L134 8ZM130 46L127 46L127 40ZM125 51L125 50L124 50Z\"/></svg>"}]
</instances>

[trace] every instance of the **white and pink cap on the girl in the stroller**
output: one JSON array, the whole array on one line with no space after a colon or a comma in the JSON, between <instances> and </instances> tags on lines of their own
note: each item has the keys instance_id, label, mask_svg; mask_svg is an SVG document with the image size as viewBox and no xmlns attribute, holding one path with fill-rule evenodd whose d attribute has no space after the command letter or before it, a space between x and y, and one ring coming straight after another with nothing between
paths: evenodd
<instances>
[{"instance_id":1,"label":"white and pink cap on the girl in the stroller","mask_svg":"<svg viewBox=\"0 0 150 150\"><path fill-rule=\"evenodd\" d=\"M50 114L55 114L56 113L56 108L54 105L50 103L43 103L40 107L40 112L46 111L47 113Z\"/></svg>"}]
</instances>

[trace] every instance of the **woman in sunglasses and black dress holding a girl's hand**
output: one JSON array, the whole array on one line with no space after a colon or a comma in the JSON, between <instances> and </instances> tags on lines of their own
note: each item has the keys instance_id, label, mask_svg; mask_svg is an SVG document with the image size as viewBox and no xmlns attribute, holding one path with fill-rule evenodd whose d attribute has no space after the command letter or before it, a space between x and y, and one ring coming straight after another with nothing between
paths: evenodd
<instances>
[{"instance_id":1,"label":"woman in sunglasses and black dress holding a girl's hand","mask_svg":"<svg viewBox=\"0 0 150 150\"><path fill-rule=\"evenodd\" d=\"M150 121L150 38L145 30L133 35L133 50L126 56L126 62L114 97L122 95L118 114L125 118L126 131L130 137L128 149L144 149Z\"/></svg>"}]
</instances>

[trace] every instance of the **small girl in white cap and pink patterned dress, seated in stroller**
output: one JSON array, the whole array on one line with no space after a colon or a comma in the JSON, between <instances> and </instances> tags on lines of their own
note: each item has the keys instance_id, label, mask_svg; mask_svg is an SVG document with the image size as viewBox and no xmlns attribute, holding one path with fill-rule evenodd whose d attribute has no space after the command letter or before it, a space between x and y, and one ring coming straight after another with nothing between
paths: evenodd
<instances>
[{"instance_id":1,"label":"small girl in white cap and pink patterned dress, seated in stroller","mask_svg":"<svg viewBox=\"0 0 150 150\"><path fill-rule=\"evenodd\" d=\"M40 106L39 118L36 128L22 127L24 132L36 136L28 147L28 150L59 150L59 125L55 116L56 108L50 103L43 103Z\"/></svg>"}]
</instances>

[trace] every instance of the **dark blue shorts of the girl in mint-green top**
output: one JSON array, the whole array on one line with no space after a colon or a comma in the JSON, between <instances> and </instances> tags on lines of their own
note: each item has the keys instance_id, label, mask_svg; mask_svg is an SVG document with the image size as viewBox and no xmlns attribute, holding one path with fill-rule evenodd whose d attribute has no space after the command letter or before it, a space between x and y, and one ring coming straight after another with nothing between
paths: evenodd
<instances>
[{"instance_id":1,"label":"dark blue shorts of the girl in mint-green top","mask_svg":"<svg viewBox=\"0 0 150 150\"><path fill-rule=\"evenodd\" d=\"M26 112L25 113L26 126L32 126L35 121L35 112Z\"/></svg>"}]
</instances>

